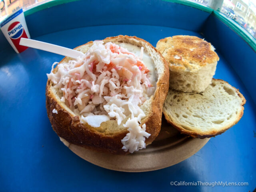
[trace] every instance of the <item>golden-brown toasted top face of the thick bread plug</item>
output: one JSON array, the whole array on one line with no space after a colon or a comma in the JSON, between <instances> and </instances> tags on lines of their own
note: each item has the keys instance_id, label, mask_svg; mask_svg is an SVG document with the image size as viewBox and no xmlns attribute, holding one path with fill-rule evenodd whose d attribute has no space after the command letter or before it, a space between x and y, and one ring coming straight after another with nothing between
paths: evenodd
<instances>
[{"instance_id":1,"label":"golden-brown toasted top face of the thick bread plug","mask_svg":"<svg viewBox=\"0 0 256 192\"><path fill-rule=\"evenodd\" d=\"M214 47L196 36L166 37L158 41L156 49L164 56L170 70L175 71L196 71L219 60Z\"/></svg>"}]
</instances>

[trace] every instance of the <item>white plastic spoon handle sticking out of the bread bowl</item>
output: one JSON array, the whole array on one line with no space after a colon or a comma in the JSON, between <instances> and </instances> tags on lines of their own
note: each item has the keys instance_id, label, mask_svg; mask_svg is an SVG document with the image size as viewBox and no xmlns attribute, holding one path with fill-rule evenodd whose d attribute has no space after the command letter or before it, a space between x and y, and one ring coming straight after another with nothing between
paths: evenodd
<instances>
[{"instance_id":1,"label":"white plastic spoon handle sticking out of the bread bowl","mask_svg":"<svg viewBox=\"0 0 256 192\"><path fill-rule=\"evenodd\" d=\"M71 57L74 59L78 58L78 56L82 57L84 55L82 52L74 49L70 49L70 48L66 48L66 47L62 47L62 46L58 46L58 45L54 45L54 44L50 44L42 41L37 41L33 39L28 39L28 38L21 38L20 45L56 53L56 54Z\"/></svg>"}]
</instances>

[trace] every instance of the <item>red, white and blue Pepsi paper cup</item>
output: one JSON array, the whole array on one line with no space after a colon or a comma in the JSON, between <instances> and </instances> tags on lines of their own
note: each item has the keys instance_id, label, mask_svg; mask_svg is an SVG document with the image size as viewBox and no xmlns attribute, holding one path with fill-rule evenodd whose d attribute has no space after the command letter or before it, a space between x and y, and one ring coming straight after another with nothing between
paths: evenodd
<instances>
[{"instance_id":1,"label":"red, white and blue Pepsi paper cup","mask_svg":"<svg viewBox=\"0 0 256 192\"><path fill-rule=\"evenodd\" d=\"M22 9L3 20L0 23L0 29L17 53L28 48L20 45L20 38L30 38Z\"/></svg>"}]
</instances>

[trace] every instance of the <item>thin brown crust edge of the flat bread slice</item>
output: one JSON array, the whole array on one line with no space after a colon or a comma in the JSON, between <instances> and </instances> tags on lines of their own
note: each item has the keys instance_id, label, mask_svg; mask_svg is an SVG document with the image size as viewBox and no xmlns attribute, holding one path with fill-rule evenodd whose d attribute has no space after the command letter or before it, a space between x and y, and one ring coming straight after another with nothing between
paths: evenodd
<instances>
[{"instance_id":1,"label":"thin brown crust edge of the flat bread slice","mask_svg":"<svg viewBox=\"0 0 256 192\"><path fill-rule=\"evenodd\" d=\"M221 79L213 79L213 80L218 80L224 83L227 83L224 80ZM164 117L166 119L166 121L168 123L170 123L174 128L176 128L177 130L179 130L182 134L187 134L190 135L194 138L200 138L200 139L204 139L204 138L211 138L211 137L215 137L216 135L220 135L222 133L224 133L226 130L228 130L229 128L231 128L232 126L234 126L235 124L238 123L238 121L242 118L243 114L244 114L244 104L246 103L246 99L244 98L244 96L239 92L238 89L236 89L235 87L232 86L232 88L234 88L234 90L236 90L236 93L238 94L238 96L241 98L242 102L241 102L241 110L240 113L238 114L236 120L234 122L232 122L231 124L224 126L222 128L222 130L219 131L209 131L209 132L200 132L200 131L192 131L192 130L186 130L184 129L182 126L180 126L180 124L174 122L167 114L167 112L165 112L163 110L164 113Z\"/></svg>"}]
</instances>

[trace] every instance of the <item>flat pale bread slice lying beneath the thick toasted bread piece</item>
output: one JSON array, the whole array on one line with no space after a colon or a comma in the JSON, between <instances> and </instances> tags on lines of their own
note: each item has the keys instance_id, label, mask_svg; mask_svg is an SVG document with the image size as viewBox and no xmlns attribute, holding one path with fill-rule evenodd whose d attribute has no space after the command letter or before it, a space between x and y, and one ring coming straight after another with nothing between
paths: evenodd
<instances>
[{"instance_id":1,"label":"flat pale bread slice lying beneath the thick toasted bread piece","mask_svg":"<svg viewBox=\"0 0 256 192\"><path fill-rule=\"evenodd\" d=\"M227 82L212 79L202 93L169 90L164 116L176 129L197 138L222 134L243 116L244 96Z\"/></svg>"}]
</instances>

